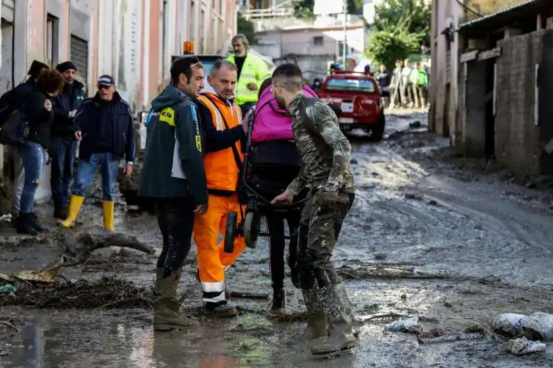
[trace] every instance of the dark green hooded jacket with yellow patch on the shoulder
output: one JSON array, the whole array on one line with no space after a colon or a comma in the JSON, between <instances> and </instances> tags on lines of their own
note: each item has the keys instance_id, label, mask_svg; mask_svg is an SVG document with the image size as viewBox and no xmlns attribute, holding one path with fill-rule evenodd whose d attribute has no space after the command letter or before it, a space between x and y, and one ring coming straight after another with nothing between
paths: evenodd
<instances>
[{"instance_id":1,"label":"dark green hooded jacket with yellow patch on the shoulder","mask_svg":"<svg viewBox=\"0 0 553 368\"><path fill-rule=\"evenodd\" d=\"M196 205L207 204L198 106L189 95L174 86L165 87L151 106L146 122L146 159L140 174L138 195L155 198L191 196ZM173 170L179 166L184 175Z\"/></svg>"}]
</instances>

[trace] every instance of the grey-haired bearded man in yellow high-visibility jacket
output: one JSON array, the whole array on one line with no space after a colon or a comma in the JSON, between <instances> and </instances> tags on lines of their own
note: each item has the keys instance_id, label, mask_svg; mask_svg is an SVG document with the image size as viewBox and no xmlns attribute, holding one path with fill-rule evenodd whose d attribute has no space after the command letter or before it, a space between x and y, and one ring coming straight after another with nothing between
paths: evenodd
<instances>
[{"instance_id":1,"label":"grey-haired bearded man in yellow high-visibility jacket","mask_svg":"<svg viewBox=\"0 0 553 368\"><path fill-rule=\"evenodd\" d=\"M257 93L261 82L270 77L265 61L257 57L250 49L250 43L245 35L239 33L232 37L234 55L227 58L238 68L238 83L236 84L236 104L245 115L257 102Z\"/></svg>"}]
</instances>

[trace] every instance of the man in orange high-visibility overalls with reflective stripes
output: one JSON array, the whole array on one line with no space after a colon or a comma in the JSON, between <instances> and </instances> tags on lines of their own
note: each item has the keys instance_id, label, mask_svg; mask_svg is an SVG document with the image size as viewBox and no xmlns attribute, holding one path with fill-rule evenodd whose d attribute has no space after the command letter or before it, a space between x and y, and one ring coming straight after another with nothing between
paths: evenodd
<instances>
[{"instance_id":1,"label":"man in orange high-visibility overalls with reflective stripes","mask_svg":"<svg viewBox=\"0 0 553 368\"><path fill-rule=\"evenodd\" d=\"M214 64L202 95L198 98L205 107L202 113L205 137L205 175L207 179L208 209L194 220L194 241L198 253L199 278L203 301L209 313L219 317L238 314L236 308L225 298L225 269L245 249L244 238L237 238L234 252L223 251L218 243L219 233L225 233L227 214L238 213L240 203L236 186L238 164L243 160L242 144L245 131L242 115L234 103L237 70L230 61L219 60Z\"/></svg>"}]
</instances>

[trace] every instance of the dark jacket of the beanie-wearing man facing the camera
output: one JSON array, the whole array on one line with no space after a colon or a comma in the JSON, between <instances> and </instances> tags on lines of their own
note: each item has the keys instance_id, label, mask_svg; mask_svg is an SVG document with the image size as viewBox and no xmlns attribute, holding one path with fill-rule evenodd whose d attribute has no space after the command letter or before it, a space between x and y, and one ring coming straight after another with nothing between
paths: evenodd
<instances>
[{"instance_id":1,"label":"dark jacket of the beanie-wearing man facing the camera","mask_svg":"<svg viewBox=\"0 0 553 368\"><path fill-rule=\"evenodd\" d=\"M73 137L73 117L69 117L69 113L77 110L86 98L83 87L79 81L64 86L63 92L55 100L52 135Z\"/></svg>"}]
</instances>

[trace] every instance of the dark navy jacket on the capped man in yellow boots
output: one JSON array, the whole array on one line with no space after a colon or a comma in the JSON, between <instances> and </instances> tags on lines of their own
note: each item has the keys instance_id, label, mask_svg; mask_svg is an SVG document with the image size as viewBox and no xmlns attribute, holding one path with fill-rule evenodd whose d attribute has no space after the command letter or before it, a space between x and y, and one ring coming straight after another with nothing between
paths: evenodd
<instances>
[{"instance_id":1,"label":"dark navy jacket on the capped man in yellow boots","mask_svg":"<svg viewBox=\"0 0 553 368\"><path fill-rule=\"evenodd\" d=\"M82 133L79 159L86 161L93 153L105 152L97 151L98 142L113 139L111 153L121 158L124 156L126 162L134 162L133 114L129 104L119 93L115 92L111 101L103 101L98 93L92 98L85 99L73 119L73 131L78 130ZM105 136L106 131L111 132L111 137Z\"/></svg>"}]
</instances>

